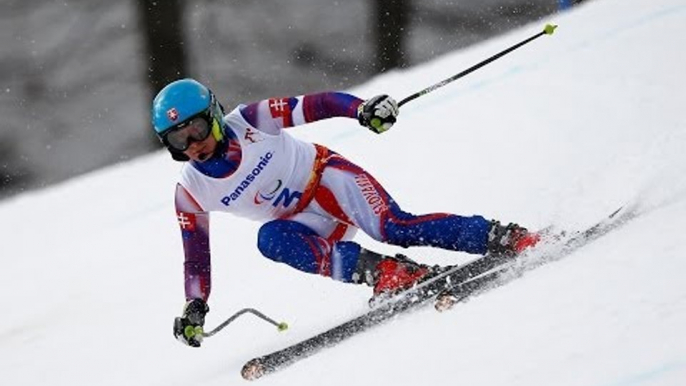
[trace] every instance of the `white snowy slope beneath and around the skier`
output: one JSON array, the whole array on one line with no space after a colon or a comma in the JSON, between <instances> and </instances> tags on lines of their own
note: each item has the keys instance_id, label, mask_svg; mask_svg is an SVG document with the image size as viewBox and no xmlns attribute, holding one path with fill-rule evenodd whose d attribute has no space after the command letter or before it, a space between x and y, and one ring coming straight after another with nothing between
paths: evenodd
<instances>
[{"instance_id":1,"label":"white snowy slope beneath and around the skier","mask_svg":"<svg viewBox=\"0 0 686 386\"><path fill-rule=\"evenodd\" d=\"M383 136L347 120L295 133L362 163L414 212L570 229L627 201L644 215L450 313L400 317L259 382L686 382L686 3L595 1L551 21L560 25L554 36L412 102ZM542 27L353 91L404 97ZM246 360L365 310L368 289L269 262L255 247L259 224L215 215L208 326L252 306L291 329L279 334L248 316L200 350L175 342L177 173L160 152L0 206L3 385L238 384ZM469 258L408 253L430 263Z\"/></svg>"}]
</instances>

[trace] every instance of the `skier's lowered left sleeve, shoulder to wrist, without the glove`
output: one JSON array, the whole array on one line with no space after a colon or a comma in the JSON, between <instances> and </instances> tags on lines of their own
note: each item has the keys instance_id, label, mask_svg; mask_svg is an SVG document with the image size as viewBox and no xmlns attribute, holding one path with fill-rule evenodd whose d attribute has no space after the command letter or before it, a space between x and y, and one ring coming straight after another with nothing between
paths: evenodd
<instances>
[{"instance_id":1,"label":"skier's lowered left sleeve, shoulder to wrist, without the glove","mask_svg":"<svg viewBox=\"0 0 686 386\"><path fill-rule=\"evenodd\" d=\"M210 215L188 191L176 186L176 215L183 238L186 300L207 301L212 286L210 265Z\"/></svg>"}]
</instances>

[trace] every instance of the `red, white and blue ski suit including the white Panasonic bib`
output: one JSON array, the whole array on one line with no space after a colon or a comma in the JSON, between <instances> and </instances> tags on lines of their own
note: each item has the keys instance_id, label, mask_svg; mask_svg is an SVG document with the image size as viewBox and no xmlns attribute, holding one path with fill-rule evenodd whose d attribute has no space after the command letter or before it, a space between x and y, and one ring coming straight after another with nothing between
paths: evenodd
<instances>
[{"instance_id":1,"label":"red, white and blue ski suit including the white Panasonic bib","mask_svg":"<svg viewBox=\"0 0 686 386\"><path fill-rule=\"evenodd\" d=\"M212 211L264 222L257 238L264 256L345 282L360 253L350 241L357 229L403 247L486 251L490 224L483 217L405 212L360 166L284 130L333 117L356 119L361 102L344 93L311 94L240 105L224 117L218 151L184 164L176 188L187 299L210 294Z\"/></svg>"}]
</instances>

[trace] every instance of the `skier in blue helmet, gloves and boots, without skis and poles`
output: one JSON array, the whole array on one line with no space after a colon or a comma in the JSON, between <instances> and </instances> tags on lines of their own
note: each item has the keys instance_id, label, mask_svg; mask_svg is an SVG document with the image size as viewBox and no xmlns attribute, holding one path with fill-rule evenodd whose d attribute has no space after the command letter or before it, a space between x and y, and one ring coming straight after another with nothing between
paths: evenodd
<instances>
[{"instance_id":1,"label":"skier in blue helmet, gloves and boots, without skis and poles","mask_svg":"<svg viewBox=\"0 0 686 386\"><path fill-rule=\"evenodd\" d=\"M300 271L367 284L388 296L435 275L438 268L386 256L350 241L358 229L402 247L433 246L474 254L518 254L540 236L482 216L405 212L363 168L304 142L289 127L333 117L357 119L379 134L396 122L387 95L366 101L341 92L272 98L226 114L201 83L182 79L155 97L152 123L174 160L183 161L175 206L185 253L186 303L174 336L199 347L209 312L209 213L264 222L259 251Z\"/></svg>"}]
</instances>

